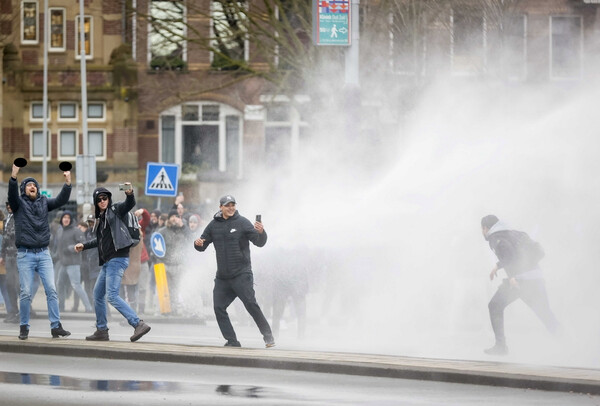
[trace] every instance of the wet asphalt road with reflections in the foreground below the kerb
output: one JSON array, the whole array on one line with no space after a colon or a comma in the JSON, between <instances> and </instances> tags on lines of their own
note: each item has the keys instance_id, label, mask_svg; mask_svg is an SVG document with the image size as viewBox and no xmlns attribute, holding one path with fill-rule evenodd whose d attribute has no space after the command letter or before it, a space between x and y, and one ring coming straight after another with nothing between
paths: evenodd
<instances>
[{"instance_id":1,"label":"wet asphalt road with reflections in the foreground below the kerb","mask_svg":"<svg viewBox=\"0 0 600 406\"><path fill-rule=\"evenodd\" d=\"M0 405L600 405L584 394L265 369L0 354Z\"/></svg>"}]
</instances>

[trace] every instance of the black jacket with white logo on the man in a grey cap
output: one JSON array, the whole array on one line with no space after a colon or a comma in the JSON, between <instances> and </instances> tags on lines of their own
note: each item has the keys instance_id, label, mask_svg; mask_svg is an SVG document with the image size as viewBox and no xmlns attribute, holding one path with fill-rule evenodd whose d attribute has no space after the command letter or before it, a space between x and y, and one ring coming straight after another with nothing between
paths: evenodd
<instances>
[{"instance_id":1,"label":"black jacket with white logo on the man in a grey cap","mask_svg":"<svg viewBox=\"0 0 600 406\"><path fill-rule=\"evenodd\" d=\"M237 212L224 219L221 212L215 214L206 226L202 236L204 245L197 251L204 251L213 243L217 252L217 278L231 279L242 273L251 273L250 244L263 247L267 243L267 232L259 234L250 220Z\"/></svg>"}]
</instances>

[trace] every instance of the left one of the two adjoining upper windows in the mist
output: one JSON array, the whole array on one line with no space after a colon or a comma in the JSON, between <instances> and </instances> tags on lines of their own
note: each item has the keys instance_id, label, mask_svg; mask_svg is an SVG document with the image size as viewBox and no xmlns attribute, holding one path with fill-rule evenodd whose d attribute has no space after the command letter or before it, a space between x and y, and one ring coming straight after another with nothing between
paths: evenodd
<instances>
[{"instance_id":1,"label":"left one of the two adjoining upper windows in the mist","mask_svg":"<svg viewBox=\"0 0 600 406\"><path fill-rule=\"evenodd\" d=\"M452 12L452 71L454 73L480 73L484 61L485 20L481 13Z\"/></svg>"}]
</instances>

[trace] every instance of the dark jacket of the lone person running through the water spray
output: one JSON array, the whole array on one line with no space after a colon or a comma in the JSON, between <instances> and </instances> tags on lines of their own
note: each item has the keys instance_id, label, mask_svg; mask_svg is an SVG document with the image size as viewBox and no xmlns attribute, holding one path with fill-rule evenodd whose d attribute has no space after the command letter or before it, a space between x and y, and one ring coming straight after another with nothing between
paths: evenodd
<instances>
[{"instance_id":1,"label":"dark jacket of the lone person running through the water spray","mask_svg":"<svg viewBox=\"0 0 600 406\"><path fill-rule=\"evenodd\" d=\"M504 268L509 277L531 271L538 265L537 260L527 255L524 249L524 241L530 241L530 238L523 231L510 230L501 222L497 222L488 232L486 239L498 258L498 269Z\"/></svg>"}]
</instances>

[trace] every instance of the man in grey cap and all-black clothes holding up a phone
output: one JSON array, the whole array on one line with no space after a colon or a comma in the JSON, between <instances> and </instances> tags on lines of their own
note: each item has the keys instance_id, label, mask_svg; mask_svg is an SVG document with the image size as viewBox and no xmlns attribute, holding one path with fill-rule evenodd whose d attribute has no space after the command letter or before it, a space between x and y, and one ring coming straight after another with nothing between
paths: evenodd
<instances>
[{"instance_id":1,"label":"man in grey cap and all-black clothes holding up a phone","mask_svg":"<svg viewBox=\"0 0 600 406\"><path fill-rule=\"evenodd\" d=\"M194 241L197 251L204 251L213 243L217 254L217 277L213 289L215 315L227 347L241 347L237 340L227 307L239 297L263 335L267 348L275 345L269 322L256 302L254 276L250 261L250 244L257 247L267 243L267 232L262 223L240 216L233 196L223 196L220 211L206 226L202 236Z\"/></svg>"}]
</instances>

